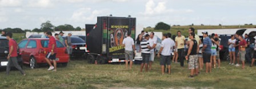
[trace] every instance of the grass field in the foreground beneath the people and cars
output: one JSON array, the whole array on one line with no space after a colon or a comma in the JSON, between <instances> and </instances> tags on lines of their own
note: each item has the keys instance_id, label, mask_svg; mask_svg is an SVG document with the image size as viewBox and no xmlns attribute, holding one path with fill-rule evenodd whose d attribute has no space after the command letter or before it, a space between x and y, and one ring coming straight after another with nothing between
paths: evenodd
<instances>
[{"instance_id":1,"label":"grass field in the foreground beneath the people and cars","mask_svg":"<svg viewBox=\"0 0 256 89\"><path fill-rule=\"evenodd\" d=\"M185 61L186 62L186 61ZM185 63L185 66L187 64ZM84 60L71 61L57 72L23 67L26 76L12 70L9 76L0 71L1 88L253 88L256 83L256 67L241 67L222 62L221 69L213 73L201 71L195 78L188 78L189 70L173 63L171 74L161 74L159 60L148 73L139 73L139 65L132 70L123 64L92 65Z\"/></svg>"}]
</instances>

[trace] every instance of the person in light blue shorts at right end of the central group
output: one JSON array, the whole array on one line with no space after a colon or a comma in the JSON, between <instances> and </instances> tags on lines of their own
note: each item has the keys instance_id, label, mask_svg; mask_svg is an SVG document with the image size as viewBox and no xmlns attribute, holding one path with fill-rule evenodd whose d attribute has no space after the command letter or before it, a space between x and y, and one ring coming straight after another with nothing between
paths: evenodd
<instances>
[{"instance_id":1,"label":"person in light blue shorts at right end of the central group","mask_svg":"<svg viewBox=\"0 0 256 89\"><path fill-rule=\"evenodd\" d=\"M217 46L219 44L218 41L215 41L215 34L211 34L211 65L214 66L214 69L216 68L216 56L217 56Z\"/></svg>"}]
</instances>

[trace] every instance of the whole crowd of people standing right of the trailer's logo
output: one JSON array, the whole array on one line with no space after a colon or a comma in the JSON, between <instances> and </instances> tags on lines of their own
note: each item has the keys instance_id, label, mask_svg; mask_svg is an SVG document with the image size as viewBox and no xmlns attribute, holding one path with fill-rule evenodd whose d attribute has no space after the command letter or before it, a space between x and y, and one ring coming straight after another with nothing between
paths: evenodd
<instances>
[{"instance_id":1,"label":"whole crowd of people standing right of the trailer's logo","mask_svg":"<svg viewBox=\"0 0 256 89\"><path fill-rule=\"evenodd\" d=\"M205 65L205 72L211 73L211 69L221 67L221 58L219 57L219 50L221 39L216 33L209 35L207 31L202 32L203 39L195 34L194 28L189 28L189 37L185 38L181 31L177 32L177 36L173 40L171 38L171 33L163 34L161 48L158 53L155 53L155 47L157 45L157 38L154 36L154 32L142 31L138 35L136 44L134 40L131 39L130 33L129 37L124 39L123 46L125 46L125 57L126 57L126 68L128 61L133 60L133 53L142 53L142 63L140 71L149 71L152 69L152 63L154 62L154 56L160 58L161 73L165 74L165 69L167 67L167 73L171 73L171 60L173 63L180 62L181 67L184 67L184 60L188 61L188 68L191 70L189 78L197 76L200 70L203 70ZM255 39L255 37L254 37ZM252 39L245 34L245 37L239 34L231 35L228 40L229 45L229 56L230 65L240 66L242 63L242 69L245 69L246 59L251 60L251 66L254 65L256 58L256 41L251 42ZM250 45L250 46L249 46ZM253 56L251 55L251 49L253 49ZM134 51L134 52L133 52ZM174 54L174 55L172 55ZM173 57L173 59L171 59ZM235 62L237 64L235 64ZM130 69L132 66L130 63Z\"/></svg>"}]
</instances>

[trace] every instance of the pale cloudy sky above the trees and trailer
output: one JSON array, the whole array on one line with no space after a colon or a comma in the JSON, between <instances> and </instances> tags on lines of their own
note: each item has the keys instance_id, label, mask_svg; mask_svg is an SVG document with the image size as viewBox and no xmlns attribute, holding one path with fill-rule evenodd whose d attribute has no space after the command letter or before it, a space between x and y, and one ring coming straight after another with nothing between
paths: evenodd
<instances>
[{"instance_id":1,"label":"pale cloudy sky above the trees and trailer","mask_svg":"<svg viewBox=\"0 0 256 89\"><path fill-rule=\"evenodd\" d=\"M256 24L255 0L0 0L0 29L71 24L85 28L97 16L137 19L143 27L158 22L177 25Z\"/></svg>"}]
</instances>

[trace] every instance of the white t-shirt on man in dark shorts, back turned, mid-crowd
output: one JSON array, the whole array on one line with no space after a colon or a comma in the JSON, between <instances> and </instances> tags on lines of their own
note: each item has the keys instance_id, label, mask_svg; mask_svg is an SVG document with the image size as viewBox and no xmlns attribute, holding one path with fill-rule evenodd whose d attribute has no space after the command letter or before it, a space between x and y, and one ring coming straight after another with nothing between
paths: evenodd
<instances>
[{"instance_id":1,"label":"white t-shirt on man in dark shorts, back turned, mid-crowd","mask_svg":"<svg viewBox=\"0 0 256 89\"><path fill-rule=\"evenodd\" d=\"M162 55L163 56L171 56L171 41L168 39L165 39L162 41L161 47L163 47Z\"/></svg>"}]
</instances>

